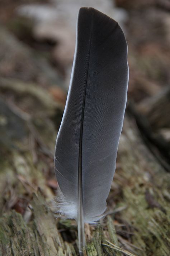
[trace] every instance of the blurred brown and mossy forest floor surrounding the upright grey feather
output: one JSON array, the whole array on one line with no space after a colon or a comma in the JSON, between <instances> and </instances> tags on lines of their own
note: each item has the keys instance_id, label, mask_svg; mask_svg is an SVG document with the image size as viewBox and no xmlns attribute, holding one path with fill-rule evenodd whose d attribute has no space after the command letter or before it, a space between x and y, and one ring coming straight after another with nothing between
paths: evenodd
<instances>
[{"instance_id":1,"label":"blurred brown and mossy forest floor surrounding the upright grey feather","mask_svg":"<svg viewBox=\"0 0 170 256\"><path fill-rule=\"evenodd\" d=\"M58 186L53 155L69 86L75 28L71 18L68 24L62 15L59 20L47 19L54 9L50 1L37 5L49 8L48 15L42 12L46 22L35 18L41 9L29 15L22 12L25 2L36 3L0 1L0 256L78 255L76 222L55 214L53 205ZM122 14L126 18L119 19L128 42L128 103L107 216L97 226L85 225L86 254L166 256L170 255L170 4L115 2L126 12Z\"/></svg>"}]
</instances>

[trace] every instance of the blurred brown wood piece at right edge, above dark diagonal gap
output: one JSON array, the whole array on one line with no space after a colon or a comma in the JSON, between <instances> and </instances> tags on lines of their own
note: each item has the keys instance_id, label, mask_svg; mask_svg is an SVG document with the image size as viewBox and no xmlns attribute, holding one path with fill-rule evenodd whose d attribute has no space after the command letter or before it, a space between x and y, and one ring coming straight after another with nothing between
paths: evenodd
<instances>
[{"instance_id":1,"label":"blurred brown wood piece at right edge, above dark diagonal gap","mask_svg":"<svg viewBox=\"0 0 170 256\"><path fill-rule=\"evenodd\" d=\"M170 88L165 87L155 96L143 100L137 109L132 104L128 109L133 112L152 152L170 171Z\"/></svg>"}]
</instances>

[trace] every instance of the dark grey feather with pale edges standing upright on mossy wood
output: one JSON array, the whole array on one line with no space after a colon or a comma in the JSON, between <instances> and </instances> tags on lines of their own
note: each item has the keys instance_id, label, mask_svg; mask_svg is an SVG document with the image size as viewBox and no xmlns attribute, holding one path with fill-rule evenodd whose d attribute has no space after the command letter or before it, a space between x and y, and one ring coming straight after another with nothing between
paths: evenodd
<instances>
[{"instance_id":1,"label":"dark grey feather with pale edges standing upright on mossy wood","mask_svg":"<svg viewBox=\"0 0 170 256\"><path fill-rule=\"evenodd\" d=\"M127 43L118 23L98 10L81 8L69 92L55 148L60 187L57 210L77 220L81 249L84 222L99 220L106 210L128 74Z\"/></svg>"}]
</instances>

